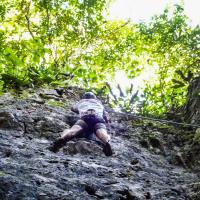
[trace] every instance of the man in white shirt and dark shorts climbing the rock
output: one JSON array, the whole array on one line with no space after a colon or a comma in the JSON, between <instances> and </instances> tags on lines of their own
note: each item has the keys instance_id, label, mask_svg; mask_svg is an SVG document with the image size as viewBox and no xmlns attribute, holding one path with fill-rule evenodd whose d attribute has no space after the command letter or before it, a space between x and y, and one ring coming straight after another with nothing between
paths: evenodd
<instances>
[{"instance_id":1,"label":"man in white shirt and dark shorts climbing the rock","mask_svg":"<svg viewBox=\"0 0 200 200\"><path fill-rule=\"evenodd\" d=\"M65 129L63 135L56 139L49 149L56 153L67 141L80 136L83 132L94 132L103 143L105 155L111 156L113 153L109 143L110 136L105 126L105 122L108 122L108 114L96 96L92 92L86 92L71 110L79 114L80 119L70 129Z\"/></svg>"}]
</instances>

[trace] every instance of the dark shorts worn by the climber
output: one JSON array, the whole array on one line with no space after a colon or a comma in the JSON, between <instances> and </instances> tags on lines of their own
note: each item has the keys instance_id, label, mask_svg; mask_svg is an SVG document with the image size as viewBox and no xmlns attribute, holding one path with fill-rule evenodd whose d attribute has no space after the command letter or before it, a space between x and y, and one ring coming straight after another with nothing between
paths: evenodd
<instances>
[{"instance_id":1,"label":"dark shorts worn by the climber","mask_svg":"<svg viewBox=\"0 0 200 200\"><path fill-rule=\"evenodd\" d=\"M105 121L103 118L96 115L85 115L79 119L75 125L79 125L84 131L96 132L97 129L106 129Z\"/></svg>"}]
</instances>

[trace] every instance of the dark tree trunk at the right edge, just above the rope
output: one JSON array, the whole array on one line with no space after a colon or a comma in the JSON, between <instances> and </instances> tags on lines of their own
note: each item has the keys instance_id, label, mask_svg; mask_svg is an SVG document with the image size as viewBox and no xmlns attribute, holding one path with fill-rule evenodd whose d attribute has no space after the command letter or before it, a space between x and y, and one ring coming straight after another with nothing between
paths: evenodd
<instances>
[{"instance_id":1,"label":"dark tree trunk at the right edge, just above the rope","mask_svg":"<svg viewBox=\"0 0 200 200\"><path fill-rule=\"evenodd\" d=\"M189 85L183 115L187 123L200 124L200 77L194 78Z\"/></svg>"}]
</instances>

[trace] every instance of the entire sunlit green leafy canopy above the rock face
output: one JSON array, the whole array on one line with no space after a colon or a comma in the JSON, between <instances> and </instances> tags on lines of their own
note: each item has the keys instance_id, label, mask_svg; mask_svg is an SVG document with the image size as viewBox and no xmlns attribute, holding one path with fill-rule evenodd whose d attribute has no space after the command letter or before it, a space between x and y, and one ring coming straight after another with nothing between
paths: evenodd
<instances>
[{"instance_id":1,"label":"entire sunlit green leafy canopy above the rock face","mask_svg":"<svg viewBox=\"0 0 200 200\"><path fill-rule=\"evenodd\" d=\"M2 0L0 84L3 90L47 85L109 93L117 70L130 79L147 68L156 78L141 96L127 88L115 106L162 115L184 104L199 76L200 28L183 6L165 9L149 23L108 21L109 0ZM136 108L137 107L137 108Z\"/></svg>"}]
</instances>

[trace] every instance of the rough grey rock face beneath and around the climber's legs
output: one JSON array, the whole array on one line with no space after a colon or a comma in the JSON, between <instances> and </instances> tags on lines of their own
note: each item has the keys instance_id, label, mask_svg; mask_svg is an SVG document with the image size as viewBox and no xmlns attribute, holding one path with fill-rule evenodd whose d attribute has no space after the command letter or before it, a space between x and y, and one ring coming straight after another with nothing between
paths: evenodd
<instances>
[{"instance_id":1,"label":"rough grey rock face beneath and around the climber's legs","mask_svg":"<svg viewBox=\"0 0 200 200\"><path fill-rule=\"evenodd\" d=\"M180 161L172 134L116 113L112 157L83 138L54 154L47 147L77 116L41 102L0 97L1 200L200 199L198 172Z\"/></svg>"}]
</instances>

